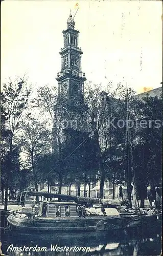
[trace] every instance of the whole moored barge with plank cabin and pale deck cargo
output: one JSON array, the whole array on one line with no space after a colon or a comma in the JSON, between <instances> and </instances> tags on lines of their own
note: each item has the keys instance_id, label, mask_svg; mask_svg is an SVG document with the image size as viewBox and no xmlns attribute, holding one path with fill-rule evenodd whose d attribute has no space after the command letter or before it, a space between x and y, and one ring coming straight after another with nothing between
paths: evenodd
<instances>
[{"instance_id":1,"label":"whole moored barge with plank cabin and pale deck cargo","mask_svg":"<svg viewBox=\"0 0 163 256\"><path fill-rule=\"evenodd\" d=\"M161 225L161 214L122 216L117 209L107 208L107 215L104 216L101 208L98 208L97 214L79 217L77 206L76 202L69 201L40 201L31 207L31 211L26 211L26 214L26 208L22 208L21 212L12 211L7 218L8 227L10 231L19 233L54 233L124 230L138 226Z\"/></svg>"}]
</instances>

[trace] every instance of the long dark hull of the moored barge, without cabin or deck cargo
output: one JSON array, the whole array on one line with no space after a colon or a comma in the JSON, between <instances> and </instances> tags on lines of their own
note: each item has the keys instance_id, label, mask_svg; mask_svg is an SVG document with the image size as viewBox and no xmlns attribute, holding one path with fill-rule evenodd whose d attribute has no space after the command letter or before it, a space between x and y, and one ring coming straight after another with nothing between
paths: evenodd
<instances>
[{"instance_id":1,"label":"long dark hull of the moored barge, without cabin or deck cargo","mask_svg":"<svg viewBox=\"0 0 163 256\"><path fill-rule=\"evenodd\" d=\"M86 218L19 218L9 215L8 227L13 232L91 232L122 230L134 227L161 226L161 214L142 217L103 217L92 216Z\"/></svg>"}]
</instances>

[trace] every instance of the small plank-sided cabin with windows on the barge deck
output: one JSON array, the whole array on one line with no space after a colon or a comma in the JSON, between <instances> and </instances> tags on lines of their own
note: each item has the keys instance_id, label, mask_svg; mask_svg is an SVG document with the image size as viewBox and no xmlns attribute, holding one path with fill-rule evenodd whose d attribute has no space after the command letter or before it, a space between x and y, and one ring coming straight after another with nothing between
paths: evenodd
<instances>
[{"instance_id":1,"label":"small plank-sided cabin with windows on the barge deck","mask_svg":"<svg viewBox=\"0 0 163 256\"><path fill-rule=\"evenodd\" d=\"M77 204L75 202L41 201L38 216L50 218L78 217Z\"/></svg>"}]
</instances>

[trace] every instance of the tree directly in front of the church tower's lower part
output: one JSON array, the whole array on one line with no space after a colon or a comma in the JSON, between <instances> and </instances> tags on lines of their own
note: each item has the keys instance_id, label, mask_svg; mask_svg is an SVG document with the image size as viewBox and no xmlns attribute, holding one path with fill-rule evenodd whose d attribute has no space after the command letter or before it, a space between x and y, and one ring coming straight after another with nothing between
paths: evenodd
<instances>
[{"instance_id":1,"label":"tree directly in front of the church tower's lower part","mask_svg":"<svg viewBox=\"0 0 163 256\"><path fill-rule=\"evenodd\" d=\"M66 137L63 130L64 128L66 130L71 127L71 121L75 121L77 119L78 111L76 108L74 108L77 102L75 101L75 99L67 99L62 94L57 95L56 88L50 89L47 86L38 90L35 102L36 105L39 106L41 113L46 113L46 116L48 115L46 121L49 121L51 126L50 129L52 131L53 154L50 157L54 157L54 161L52 164L53 170L51 171L51 173L55 173L55 177L58 181L59 186L58 193L60 194L63 180L64 182L65 180L66 182L69 182L67 179L65 179L65 176L69 178L71 177L69 173L67 174L67 166L65 166L64 163L64 158L69 155L69 151L66 152L65 149L67 148L66 140L69 140L69 137ZM65 152L67 153L67 155L65 155ZM65 168L63 166L65 166ZM69 184L71 184L71 182Z\"/></svg>"}]
</instances>

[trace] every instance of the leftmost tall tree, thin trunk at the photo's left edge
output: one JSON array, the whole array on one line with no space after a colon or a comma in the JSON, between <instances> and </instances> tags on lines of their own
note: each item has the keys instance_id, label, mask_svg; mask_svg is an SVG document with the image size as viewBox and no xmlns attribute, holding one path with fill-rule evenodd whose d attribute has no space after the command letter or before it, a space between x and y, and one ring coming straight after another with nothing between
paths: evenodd
<instances>
[{"instance_id":1,"label":"leftmost tall tree, thin trunk at the photo's left edge","mask_svg":"<svg viewBox=\"0 0 163 256\"><path fill-rule=\"evenodd\" d=\"M6 142L2 142L3 146L7 147L6 154L8 161L12 163L13 147L16 144L16 137L21 127L21 118L28 107L28 100L31 90L27 88L27 80L25 78L17 79L14 83L9 78L8 83L4 83L1 92L1 105L3 109L3 127L6 130L7 136L4 137ZM5 154L5 152L4 152ZM2 170L5 172L5 210L7 210L7 197L9 187L9 177L11 169Z\"/></svg>"}]
</instances>

